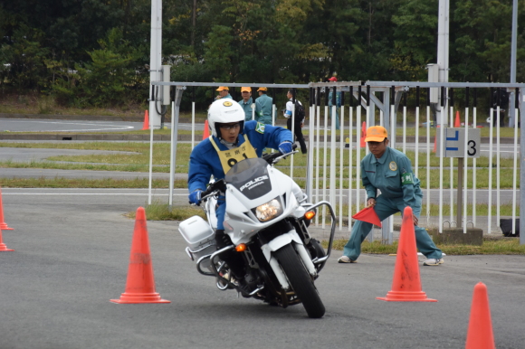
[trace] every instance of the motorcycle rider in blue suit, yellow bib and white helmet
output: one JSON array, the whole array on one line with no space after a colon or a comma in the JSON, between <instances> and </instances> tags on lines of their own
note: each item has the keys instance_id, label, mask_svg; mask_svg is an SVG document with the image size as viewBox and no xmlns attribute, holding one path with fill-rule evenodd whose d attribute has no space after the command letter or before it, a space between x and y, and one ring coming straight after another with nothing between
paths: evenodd
<instances>
[{"instance_id":1,"label":"motorcycle rider in blue suit, yellow bib and white helmet","mask_svg":"<svg viewBox=\"0 0 525 349\"><path fill-rule=\"evenodd\" d=\"M201 193L206 189L212 175L215 180L224 178L224 174L235 163L244 158L261 157L264 147L279 149L282 154L291 152L292 138L289 130L257 121L244 122L244 118L243 108L233 99L215 100L208 109L208 124L212 136L199 143L189 159L190 203L200 203ZM219 249L232 243L230 237L224 233L225 210L223 193L219 196L215 208L215 241ZM221 259L228 263L235 278L243 280L243 263L239 262L238 256L238 253L224 253Z\"/></svg>"}]
</instances>

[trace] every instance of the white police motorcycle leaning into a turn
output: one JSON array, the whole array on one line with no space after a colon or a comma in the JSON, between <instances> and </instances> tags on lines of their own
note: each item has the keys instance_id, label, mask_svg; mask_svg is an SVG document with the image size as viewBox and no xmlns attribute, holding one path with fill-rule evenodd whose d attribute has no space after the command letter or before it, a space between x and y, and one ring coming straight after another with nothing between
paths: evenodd
<instances>
[{"instance_id":1,"label":"white police motorcycle leaning into a turn","mask_svg":"<svg viewBox=\"0 0 525 349\"><path fill-rule=\"evenodd\" d=\"M233 288L243 297L280 307L302 303L308 316L318 318L324 316L325 307L314 280L329 258L336 216L326 201L306 203L299 185L273 167L290 154L274 153L235 164L224 179L210 184L202 193L208 222L193 216L179 224L179 231L188 244L187 254L196 260L196 269L215 277L217 288ZM219 193L226 196L224 231L233 244L216 250L215 203ZM332 217L326 252L308 231L321 205L328 206ZM240 287L219 258L233 249L243 254L245 268L254 276L249 290Z\"/></svg>"}]
</instances>

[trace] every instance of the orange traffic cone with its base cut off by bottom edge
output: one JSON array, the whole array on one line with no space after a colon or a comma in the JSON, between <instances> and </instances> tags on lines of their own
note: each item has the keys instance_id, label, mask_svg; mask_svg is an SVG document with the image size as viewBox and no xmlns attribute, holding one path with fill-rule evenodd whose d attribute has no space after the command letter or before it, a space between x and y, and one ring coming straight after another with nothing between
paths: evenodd
<instances>
[{"instance_id":1,"label":"orange traffic cone with its base cut off by bottom edge","mask_svg":"<svg viewBox=\"0 0 525 349\"><path fill-rule=\"evenodd\" d=\"M474 286L472 296L471 318L465 349L491 349L495 347L487 287L482 282L478 282Z\"/></svg>"}]
</instances>

